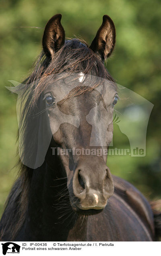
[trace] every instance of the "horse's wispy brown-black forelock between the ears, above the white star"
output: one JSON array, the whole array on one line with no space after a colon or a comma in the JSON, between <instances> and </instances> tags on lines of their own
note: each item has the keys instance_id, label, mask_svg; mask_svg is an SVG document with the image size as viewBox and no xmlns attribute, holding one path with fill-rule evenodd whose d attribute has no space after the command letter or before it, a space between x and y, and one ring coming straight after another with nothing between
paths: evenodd
<instances>
[{"instance_id":1,"label":"horse's wispy brown-black forelock between the ears, above the white star","mask_svg":"<svg viewBox=\"0 0 161 256\"><path fill-rule=\"evenodd\" d=\"M35 105L41 93L51 82L51 75L54 74L58 75L66 72L67 75L69 73L78 73L79 76L80 72L83 72L84 74L91 74L114 82L103 63L89 49L87 43L80 39L66 40L61 49L56 52L53 60L49 61L48 65L47 60L42 62L40 69L43 72L37 74L37 78L33 81L35 85L33 87L32 105ZM39 73L39 70L37 72Z\"/></svg>"}]
</instances>

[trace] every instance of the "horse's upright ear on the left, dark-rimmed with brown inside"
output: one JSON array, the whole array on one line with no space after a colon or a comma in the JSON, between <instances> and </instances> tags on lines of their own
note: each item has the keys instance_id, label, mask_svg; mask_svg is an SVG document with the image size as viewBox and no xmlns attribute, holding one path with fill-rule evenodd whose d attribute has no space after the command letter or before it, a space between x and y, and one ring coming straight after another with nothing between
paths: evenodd
<instances>
[{"instance_id":1,"label":"horse's upright ear on the left, dark-rimmed with brown inside","mask_svg":"<svg viewBox=\"0 0 161 256\"><path fill-rule=\"evenodd\" d=\"M43 50L47 57L54 56L65 41L65 32L60 23L62 19L61 14L54 15L46 24L43 33Z\"/></svg>"}]
</instances>

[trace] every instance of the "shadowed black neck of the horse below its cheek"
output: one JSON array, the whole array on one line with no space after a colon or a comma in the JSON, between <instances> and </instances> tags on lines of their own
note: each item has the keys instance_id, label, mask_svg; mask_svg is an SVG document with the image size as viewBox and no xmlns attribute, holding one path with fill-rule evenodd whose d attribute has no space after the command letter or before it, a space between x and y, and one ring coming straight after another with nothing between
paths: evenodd
<instances>
[{"instance_id":1,"label":"shadowed black neck of the horse below its cheek","mask_svg":"<svg viewBox=\"0 0 161 256\"><path fill-rule=\"evenodd\" d=\"M58 168L57 164L55 168ZM46 163L33 171L25 233L32 234L28 239L35 241L83 241L87 219L72 211L66 180L57 180L57 177ZM76 234L78 230L79 234Z\"/></svg>"}]
</instances>

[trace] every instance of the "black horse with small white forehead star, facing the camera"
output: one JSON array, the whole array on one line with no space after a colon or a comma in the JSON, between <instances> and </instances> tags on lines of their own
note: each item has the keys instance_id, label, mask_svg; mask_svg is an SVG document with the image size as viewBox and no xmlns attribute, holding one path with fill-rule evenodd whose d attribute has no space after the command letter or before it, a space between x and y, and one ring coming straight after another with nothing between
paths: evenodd
<instances>
[{"instance_id":1,"label":"black horse with small white forehead star, facing the camera","mask_svg":"<svg viewBox=\"0 0 161 256\"><path fill-rule=\"evenodd\" d=\"M114 49L114 23L104 15L88 47L65 40L61 17L48 21L33 73L15 87L20 175L2 215L1 240L154 241L161 215L155 221L144 196L111 175L107 154L97 154L112 140L118 101L103 64Z\"/></svg>"}]
</instances>

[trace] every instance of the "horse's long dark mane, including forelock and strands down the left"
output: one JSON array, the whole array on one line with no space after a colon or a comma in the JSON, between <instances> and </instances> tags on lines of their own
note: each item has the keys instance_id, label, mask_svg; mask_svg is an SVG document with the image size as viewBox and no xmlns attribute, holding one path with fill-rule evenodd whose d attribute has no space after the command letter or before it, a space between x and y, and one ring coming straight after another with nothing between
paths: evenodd
<instances>
[{"instance_id":1,"label":"horse's long dark mane, including forelock and strands down the left","mask_svg":"<svg viewBox=\"0 0 161 256\"><path fill-rule=\"evenodd\" d=\"M21 131L21 134L24 134L24 139L21 142L22 148L28 147L27 136L29 133L33 132L31 131L31 126L29 126L31 121L33 122L32 127L34 127L35 130L37 129L37 126L34 126L34 121L29 120L29 117L38 113L39 98L53 77L50 75L61 74L63 72L70 74L83 72L84 74L91 74L114 82L114 79L107 72L104 64L97 55L89 49L85 41L79 39L66 40L61 49L55 53L53 60L47 58L44 52L41 52L35 62L33 72L21 84L23 85L21 100L23 111L20 116L19 131ZM17 87L17 93L22 91L21 85ZM34 141L33 145L30 145L30 147L31 146L34 150ZM21 163L21 161L19 161L18 165L19 178L12 187L6 200L5 214L2 216L1 220L0 229L3 240L5 239L3 233L5 233L6 237L10 237L12 241L17 232L21 229L26 217L33 169L27 167ZM2 223L5 223L5 225Z\"/></svg>"}]
</instances>

